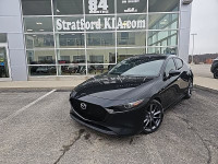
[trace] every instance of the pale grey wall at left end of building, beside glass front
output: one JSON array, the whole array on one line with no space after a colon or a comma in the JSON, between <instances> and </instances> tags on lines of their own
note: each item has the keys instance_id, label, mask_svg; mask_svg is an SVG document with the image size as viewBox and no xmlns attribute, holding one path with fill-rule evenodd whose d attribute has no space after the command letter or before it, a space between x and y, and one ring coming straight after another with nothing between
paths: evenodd
<instances>
[{"instance_id":1,"label":"pale grey wall at left end of building, beside glass front","mask_svg":"<svg viewBox=\"0 0 218 164\"><path fill-rule=\"evenodd\" d=\"M8 35L9 61L13 81L27 80L21 13L20 0L0 0L0 33Z\"/></svg>"}]
</instances>

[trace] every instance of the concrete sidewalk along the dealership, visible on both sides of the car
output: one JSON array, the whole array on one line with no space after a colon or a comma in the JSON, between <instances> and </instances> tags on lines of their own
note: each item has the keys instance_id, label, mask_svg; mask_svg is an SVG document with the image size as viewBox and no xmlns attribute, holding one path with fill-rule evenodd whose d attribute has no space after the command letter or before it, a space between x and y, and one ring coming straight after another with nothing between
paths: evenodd
<instances>
[{"instance_id":1,"label":"concrete sidewalk along the dealership, visible on both sides of the car","mask_svg":"<svg viewBox=\"0 0 218 164\"><path fill-rule=\"evenodd\" d=\"M80 80L59 80L59 81L13 81L13 82L0 82L0 89L73 89L80 83L84 82L84 79ZM211 78L194 77L194 84L196 86L206 87L218 91L218 80Z\"/></svg>"}]
</instances>

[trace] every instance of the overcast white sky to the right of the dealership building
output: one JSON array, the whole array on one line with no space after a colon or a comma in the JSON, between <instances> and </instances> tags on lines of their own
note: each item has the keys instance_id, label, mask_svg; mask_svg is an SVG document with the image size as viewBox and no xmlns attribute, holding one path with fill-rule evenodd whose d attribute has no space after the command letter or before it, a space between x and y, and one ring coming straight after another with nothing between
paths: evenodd
<instances>
[{"instance_id":1,"label":"overcast white sky to the right of the dealership building","mask_svg":"<svg viewBox=\"0 0 218 164\"><path fill-rule=\"evenodd\" d=\"M196 33L194 54L218 52L218 0L193 0L191 33ZM193 39L190 38L190 54Z\"/></svg>"}]
</instances>

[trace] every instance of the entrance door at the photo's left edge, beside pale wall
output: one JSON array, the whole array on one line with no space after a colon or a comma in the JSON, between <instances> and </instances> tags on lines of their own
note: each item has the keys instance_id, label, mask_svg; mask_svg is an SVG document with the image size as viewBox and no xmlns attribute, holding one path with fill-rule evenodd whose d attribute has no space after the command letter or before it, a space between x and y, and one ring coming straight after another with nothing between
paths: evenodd
<instances>
[{"instance_id":1,"label":"entrance door at the photo's left edge, beside pale wall","mask_svg":"<svg viewBox=\"0 0 218 164\"><path fill-rule=\"evenodd\" d=\"M0 81L10 80L8 45L0 44Z\"/></svg>"}]
</instances>

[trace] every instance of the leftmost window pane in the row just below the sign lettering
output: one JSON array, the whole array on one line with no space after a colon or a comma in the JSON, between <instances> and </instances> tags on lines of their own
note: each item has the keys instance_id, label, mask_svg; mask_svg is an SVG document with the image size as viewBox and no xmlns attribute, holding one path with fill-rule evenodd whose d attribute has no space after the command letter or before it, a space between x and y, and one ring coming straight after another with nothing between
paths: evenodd
<instances>
[{"instance_id":1,"label":"leftmost window pane in the row just below the sign lettering","mask_svg":"<svg viewBox=\"0 0 218 164\"><path fill-rule=\"evenodd\" d=\"M26 48L53 48L53 35L50 34L29 34L26 37Z\"/></svg>"}]
</instances>

